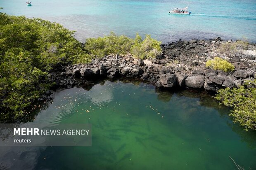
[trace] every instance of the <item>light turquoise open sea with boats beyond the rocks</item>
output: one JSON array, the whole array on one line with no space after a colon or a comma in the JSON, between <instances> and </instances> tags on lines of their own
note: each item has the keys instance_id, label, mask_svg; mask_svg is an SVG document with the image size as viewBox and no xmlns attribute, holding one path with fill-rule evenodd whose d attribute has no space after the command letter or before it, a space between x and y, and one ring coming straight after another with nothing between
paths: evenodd
<instances>
[{"instance_id":1,"label":"light turquoise open sea with boats beyond the rocks","mask_svg":"<svg viewBox=\"0 0 256 170\"><path fill-rule=\"evenodd\" d=\"M190 16L173 15L189 6ZM242 39L256 42L256 0L0 0L2 12L39 17L76 30L76 38L114 31L135 37L150 34L162 42L182 39Z\"/></svg>"}]
</instances>

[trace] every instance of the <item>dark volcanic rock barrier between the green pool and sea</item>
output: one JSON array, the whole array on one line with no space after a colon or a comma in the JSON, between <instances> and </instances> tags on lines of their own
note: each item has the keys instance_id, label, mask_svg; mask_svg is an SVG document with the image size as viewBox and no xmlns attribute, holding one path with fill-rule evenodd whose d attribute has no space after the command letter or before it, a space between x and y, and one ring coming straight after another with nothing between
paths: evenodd
<instances>
[{"instance_id":1,"label":"dark volcanic rock barrier between the green pool and sea","mask_svg":"<svg viewBox=\"0 0 256 170\"><path fill-rule=\"evenodd\" d=\"M161 44L163 55L156 59L141 60L130 54L110 55L88 64L55 68L50 72L49 79L55 82L53 89L72 88L97 79L120 77L140 79L157 88L195 88L216 92L220 88L239 87L254 76L256 55L239 53L230 57L220 56L216 49L223 42L227 41L220 37L213 40L179 40ZM251 44L249 48L255 47L255 44ZM235 70L227 73L206 68L205 62L216 56L231 62Z\"/></svg>"}]
</instances>

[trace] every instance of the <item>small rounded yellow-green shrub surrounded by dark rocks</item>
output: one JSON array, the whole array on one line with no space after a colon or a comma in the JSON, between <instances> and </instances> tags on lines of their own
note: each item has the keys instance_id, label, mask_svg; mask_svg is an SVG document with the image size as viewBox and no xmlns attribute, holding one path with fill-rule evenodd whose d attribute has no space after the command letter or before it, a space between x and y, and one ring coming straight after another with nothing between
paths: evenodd
<instances>
[{"instance_id":1,"label":"small rounded yellow-green shrub surrounded by dark rocks","mask_svg":"<svg viewBox=\"0 0 256 170\"><path fill-rule=\"evenodd\" d=\"M223 70L225 72L231 72L235 69L234 65L219 57L206 61L206 67L214 70Z\"/></svg>"}]
</instances>

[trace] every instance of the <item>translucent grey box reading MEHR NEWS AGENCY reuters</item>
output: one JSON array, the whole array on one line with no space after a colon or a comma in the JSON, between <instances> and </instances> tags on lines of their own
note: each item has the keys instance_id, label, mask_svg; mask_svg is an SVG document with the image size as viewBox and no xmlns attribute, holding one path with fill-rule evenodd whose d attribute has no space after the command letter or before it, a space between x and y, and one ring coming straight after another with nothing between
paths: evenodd
<instances>
[{"instance_id":1,"label":"translucent grey box reading MEHR NEWS AGENCY reuters","mask_svg":"<svg viewBox=\"0 0 256 170\"><path fill-rule=\"evenodd\" d=\"M2 123L0 146L92 146L92 125Z\"/></svg>"}]
</instances>

